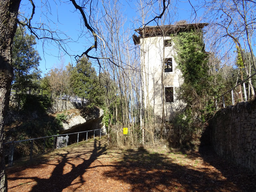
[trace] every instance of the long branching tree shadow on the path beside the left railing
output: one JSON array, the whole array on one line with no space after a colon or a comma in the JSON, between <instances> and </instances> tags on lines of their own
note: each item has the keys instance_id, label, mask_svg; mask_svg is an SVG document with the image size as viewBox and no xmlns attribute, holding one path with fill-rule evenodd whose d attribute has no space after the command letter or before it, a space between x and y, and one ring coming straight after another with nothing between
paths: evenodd
<instances>
[{"instance_id":1,"label":"long branching tree shadow on the path beside the left railing","mask_svg":"<svg viewBox=\"0 0 256 192\"><path fill-rule=\"evenodd\" d=\"M8 180L31 179L33 181L36 181L37 184L33 186L33 188L30 190L32 192L58 192L77 183L79 183L79 186L81 186L86 182L85 180L83 180L82 175L87 171L88 167L92 164L92 162L94 162L99 156L104 154L107 150L106 142L106 140L94 140L93 146L91 147L93 149L84 149L83 146L81 146L79 150L73 152L70 152L68 149L64 149L61 150L60 153L58 153L58 158L53 160L57 161L57 163L51 164L49 163L50 161L48 161L40 165L29 166L31 169L44 166L55 166L50 177L48 177L47 179L42 179L38 177L22 177L22 172L16 172L15 177L8 178ZM72 161L75 159L79 160L79 162L81 163L78 165L73 164ZM68 166L68 169L64 169L65 166Z\"/></svg>"}]
</instances>

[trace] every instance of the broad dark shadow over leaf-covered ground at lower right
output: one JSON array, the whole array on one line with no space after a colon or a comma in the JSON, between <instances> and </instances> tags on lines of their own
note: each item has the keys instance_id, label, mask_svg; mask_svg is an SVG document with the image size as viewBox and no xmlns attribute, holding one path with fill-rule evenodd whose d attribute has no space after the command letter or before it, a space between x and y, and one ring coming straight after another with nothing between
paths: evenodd
<instances>
[{"instance_id":1,"label":"broad dark shadow over leaf-covered ground at lower right","mask_svg":"<svg viewBox=\"0 0 256 192\"><path fill-rule=\"evenodd\" d=\"M199 153L190 158L197 157ZM124 151L123 159L116 162L115 168L104 174L130 184L131 191L255 191L252 188L255 183L244 188L232 177L207 166L207 162L204 164L202 167L183 165L165 154L144 148L129 149Z\"/></svg>"}]
</instances>

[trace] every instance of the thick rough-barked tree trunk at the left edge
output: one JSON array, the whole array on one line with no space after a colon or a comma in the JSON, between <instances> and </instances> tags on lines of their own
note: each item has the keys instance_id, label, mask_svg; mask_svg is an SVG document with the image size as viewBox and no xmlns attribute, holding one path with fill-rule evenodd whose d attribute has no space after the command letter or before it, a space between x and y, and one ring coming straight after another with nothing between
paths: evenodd
<instances>
[{"instance_id":1,"label":"thick rough-barked tree trunk at the left edge","mask_svg":"<svg viewBox=\"0 0 256 192\"><path fill-rule=\"evenodd\" d=\"M3 154L4 112L8 99L13 68L11 60L12 41L17 29L20 0L0 1L0 191L7 191L7 177Z\"/></svg>"}]
</instances>

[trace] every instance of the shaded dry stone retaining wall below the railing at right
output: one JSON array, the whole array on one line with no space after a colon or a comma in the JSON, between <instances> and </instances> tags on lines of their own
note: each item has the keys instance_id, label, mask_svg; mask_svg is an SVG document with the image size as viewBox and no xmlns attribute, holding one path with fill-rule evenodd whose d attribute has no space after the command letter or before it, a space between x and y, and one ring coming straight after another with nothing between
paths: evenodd
<instances>
[{"instance_id":1,"label":"shaded dry stone retaining wall below the railing at right","mask_svg":"<svg viewBox=\"0 0 256 192\"><path fill-rule=\"evenodd\" d=\"M220 109L209 128L217 154L256 173L256 100Z\"/></svg>"}]
</instances>

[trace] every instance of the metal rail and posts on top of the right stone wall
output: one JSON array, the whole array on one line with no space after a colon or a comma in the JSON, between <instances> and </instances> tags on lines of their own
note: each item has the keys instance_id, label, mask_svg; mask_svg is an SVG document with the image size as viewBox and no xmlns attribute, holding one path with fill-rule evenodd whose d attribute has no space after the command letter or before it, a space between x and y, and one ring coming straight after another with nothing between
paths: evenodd
<instances>
[{"instance_id":1,"label":"metal rail and posts on top of the right stone wall","mask_svg":"<svg viewBox=\"0 0 256 192\"><path fill-rule=\"evenodd\" d=\"M234 97L234 89L236 87L238 87L239 85L243 84L243 89L244 89L244 94L243 94L243 97L244 97L244 100L247 101L248 98L247 98L247 93L246 93L246 88L245 88L245 82L247 80L249 80L250 78L252 78L253 76L255 76L256 73L252 74L251 76L249 76L248 78L244 79L242 82L240 82L239 84L237 84L236 86L232 87L231 89L229 89L228 91L226 91L225 93L223 93L222 95L220 95L219 97L217 97L215 99L215 105L216 105L216 109L218 109L218 99L222 97L222 103L223 103L223 108L225 108L225 99L224 99L224 95L231 92L231 100L232 100L232 105L235 105L235 97Z\"/></svg>"}]
</instances>

